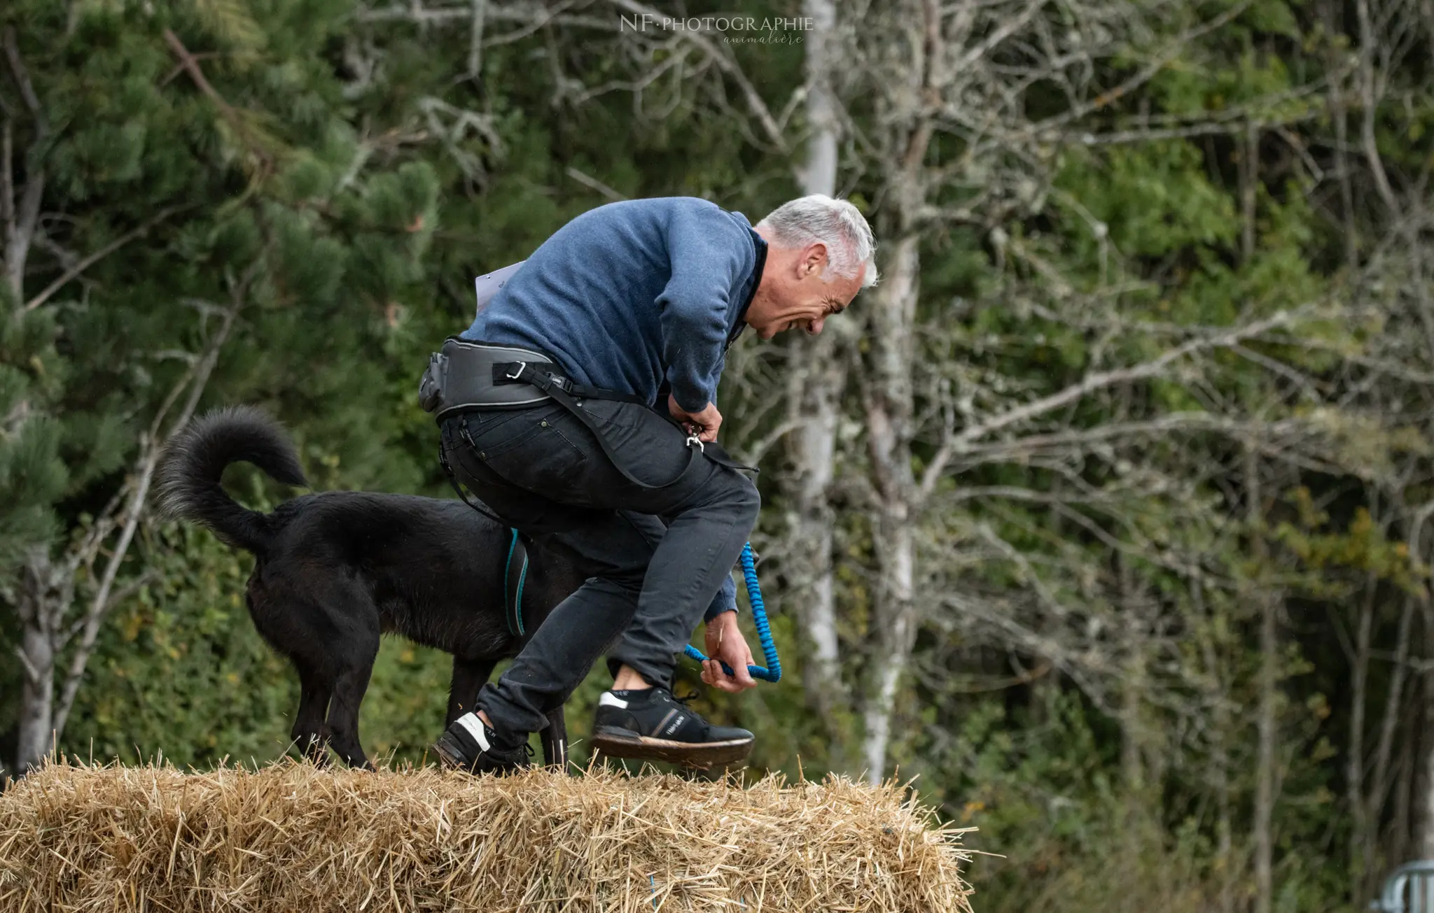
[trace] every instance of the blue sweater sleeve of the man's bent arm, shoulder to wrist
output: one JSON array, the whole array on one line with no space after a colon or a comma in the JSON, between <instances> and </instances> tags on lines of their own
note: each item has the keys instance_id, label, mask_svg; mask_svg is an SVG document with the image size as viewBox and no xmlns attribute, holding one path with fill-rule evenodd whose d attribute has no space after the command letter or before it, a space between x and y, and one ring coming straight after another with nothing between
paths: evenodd
<instances>
[{"instance_id":1,"label":"blue sweater sleeve of the man's bent arm, shoulder to wrist","mask_svg":"<svg viewBox=\"0 0 1434 913\"><path fill-rule=\"evenodd\" d=\"M727 317L750 267L750 236L713 205L678 209L668 222L673 275L657 307L667 381L687 411L717 401Z\"/></svg>"}]
</instances>

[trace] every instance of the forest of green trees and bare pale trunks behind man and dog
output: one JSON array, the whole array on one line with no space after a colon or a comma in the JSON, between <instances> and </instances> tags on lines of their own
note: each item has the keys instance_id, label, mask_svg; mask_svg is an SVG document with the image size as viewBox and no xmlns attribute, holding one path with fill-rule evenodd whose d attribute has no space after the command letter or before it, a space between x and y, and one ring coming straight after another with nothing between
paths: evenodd
<instances>
[{"instance_id":1,"label":"forest of green trees and bare pale trunks behind man and dog","mask_svg":"<svg viewBox=\"0 0 1434 913\"><path fill-rule=\"evenodd\" d=\"M701 709L915 777L982 913L1355 910L1434 857L1434 1L733 13L0 7L0 760L284 751L251 558L153 513L189 417L450 496L416 390L475 275L614 199L827 192L880 285L721 394L792 672ZM447 674L386 644L370 752Z\"/></svg>"}]
</instances>

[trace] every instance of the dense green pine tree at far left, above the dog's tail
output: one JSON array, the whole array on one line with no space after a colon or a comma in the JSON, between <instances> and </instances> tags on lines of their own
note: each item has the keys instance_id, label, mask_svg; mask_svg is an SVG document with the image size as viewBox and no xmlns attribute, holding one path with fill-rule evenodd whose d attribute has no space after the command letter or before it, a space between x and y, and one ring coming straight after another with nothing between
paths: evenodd
<instances>
[{"instance_id":1,"label":"dense green pine tree at far left, above the dog's tail","mask_svg":"<svg viewBox=\"0 0 1434 913\"><path fill-rule=\"evenodd\" d=\"M208 391L321 414L321 436L383 383L363 355L422 277L436 189L423 163L363 155L324 56L341 6L6 14L0 579L20 771L63 734L109 608L149 579L133 546L155 462ZM402 474L383 426L364 431L346 456Z\"/></svg>"}]
</instances>

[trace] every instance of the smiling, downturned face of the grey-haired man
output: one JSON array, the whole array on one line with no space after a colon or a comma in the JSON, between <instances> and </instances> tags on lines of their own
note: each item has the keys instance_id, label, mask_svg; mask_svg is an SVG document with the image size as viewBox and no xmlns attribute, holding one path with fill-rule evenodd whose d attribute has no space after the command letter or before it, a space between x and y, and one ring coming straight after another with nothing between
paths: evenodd
<instances>
[{"instance_id":1,"label":"smiling, downturned face of the grey-haired man","mask_svg":"<svg viewBox=\"0 0 1434 913\"><path fill-rule=\"evenodd\" d=\"M760 338L800 327L812 335L822 333L826 318L840 314L862 290L866 265L852 278L822 278L826 269L826 245L806 248L769 248L761 285L747 308L747 325Z\"/></svg>"}]
</instances>

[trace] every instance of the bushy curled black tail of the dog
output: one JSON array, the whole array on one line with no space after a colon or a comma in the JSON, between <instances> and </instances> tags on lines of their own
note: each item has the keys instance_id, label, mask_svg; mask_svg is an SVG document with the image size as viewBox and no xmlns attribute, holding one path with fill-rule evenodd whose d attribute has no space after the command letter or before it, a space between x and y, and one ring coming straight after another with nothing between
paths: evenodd
<instances>
[{"instance_id":1,"label":"bushy curled black tail of the dog","mask_svg":"<svg viewBox=\"0 0 1434 913\"><path fill-rule=\"evenodd\" d=\"M254 406L231 406L195 419L165 446L159 512L204 523L222 542L262 555L272 536L268 515L239 505L219 484L224 469L241 460L278 482L308 484L284 426Z\"/></svg>"}]
</instances>

